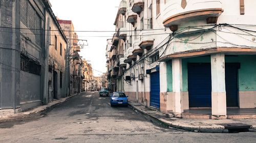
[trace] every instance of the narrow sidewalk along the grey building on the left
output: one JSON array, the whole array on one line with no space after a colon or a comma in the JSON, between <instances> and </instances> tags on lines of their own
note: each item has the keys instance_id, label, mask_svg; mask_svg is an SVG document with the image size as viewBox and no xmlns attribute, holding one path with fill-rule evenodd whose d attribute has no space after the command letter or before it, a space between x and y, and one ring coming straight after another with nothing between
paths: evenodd
<instances>
[{"instance_id":1,"label":"narrow sidewalk along the grey building on the left","mask_svg":"<svg viewBox=\"0 0 256 143\"><path fill-rule=\"evenodd\" d=\"M82 94L82 93L79 93L79 94ZM53 100L52 102L48 103L47 105L37 106L35 108L32 108L32 109L24 111L24 112L12 113L12 114L6 115L5 117L0 118L0 122L15 120L17 118L21 118L21 119L22 118L28 118L31 115L35 115L37 113L41 113L41 112L47 111L49 109L52 109L52 108L56 107L57 105L59 105L63 102L66 102L70 98L73 98L73 97L75 97L79 94L75 94L75 95L72 95L72 96L69 96L69 97L66 97L66 98L61 98L59 100Z\"/></svg>"}]
</instances>

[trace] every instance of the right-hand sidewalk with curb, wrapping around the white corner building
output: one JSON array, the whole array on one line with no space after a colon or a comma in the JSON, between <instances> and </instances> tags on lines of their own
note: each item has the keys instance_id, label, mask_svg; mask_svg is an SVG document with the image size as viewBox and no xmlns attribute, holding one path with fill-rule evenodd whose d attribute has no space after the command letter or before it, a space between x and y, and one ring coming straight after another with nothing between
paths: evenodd
<instances>
[{"instance_id":1,"label":"right-hand sidewalk with curb, wrapping around the white corner building","mask_svg":"<svg viewBox=\"0 0 256 143\"><path fill-rule=\"evenodd\" d=\"M158 110L154 110L145 107L136 102L129 102L129 104L136 110L142 112L144 115L148 115L162 124L173 127L176 129L182 129L193 132L207 132L207 133L228 133L227 126L234 124L246 124L250 125L248 131L256 132L256 119L225 119L225 120L212 120L212 119L180 119L173 118L172 115L165 115ZM225 124L225 125L221 125Z\"/></svg>"}]
</instances>

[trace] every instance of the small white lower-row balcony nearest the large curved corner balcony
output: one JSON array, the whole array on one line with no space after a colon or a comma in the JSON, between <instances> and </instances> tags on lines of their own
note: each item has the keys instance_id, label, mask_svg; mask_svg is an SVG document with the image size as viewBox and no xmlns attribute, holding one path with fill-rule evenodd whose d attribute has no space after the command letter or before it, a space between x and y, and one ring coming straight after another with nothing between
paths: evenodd
<instances>
[{"instance_id":1,"label":"small white lower-row balcony nearest the large curved corner balcony","mask_svg":"<svg viewBox=\"0 0 256 143\"><path fill-rule=\"evenodd\" d=\"M142 31L140 33L141 41L139 47L150 50L154 44L154 31Z\"/></svg>"}]
</instances>

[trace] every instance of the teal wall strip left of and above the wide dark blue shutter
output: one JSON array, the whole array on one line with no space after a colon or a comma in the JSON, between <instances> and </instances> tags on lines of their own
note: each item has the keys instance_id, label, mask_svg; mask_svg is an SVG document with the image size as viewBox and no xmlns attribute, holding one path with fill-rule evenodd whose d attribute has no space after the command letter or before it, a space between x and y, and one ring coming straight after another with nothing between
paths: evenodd
<instances>
[{"instance_id":1,"label":"teal wall strip left of and above the wide dark blue shutter","mask_svg":"<svg viewBox=\"0 0 256 143\"><path fill-rule=\"evenodd\" d=\"M188 92L187 63L210 63L210 56L198 56L195 58L182 59L182 91Z\"/></svg>"}]
</instances>

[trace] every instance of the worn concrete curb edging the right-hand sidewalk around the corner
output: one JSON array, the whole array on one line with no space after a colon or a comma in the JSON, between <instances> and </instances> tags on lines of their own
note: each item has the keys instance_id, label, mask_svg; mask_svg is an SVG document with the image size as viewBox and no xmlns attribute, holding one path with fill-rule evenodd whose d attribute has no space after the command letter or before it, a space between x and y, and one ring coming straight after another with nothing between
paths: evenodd
<instances>
[{"instance_id":1,"label":"worn concrete curb edging the right-hand sidewalk around the corner","mask_svg":"<svg viewBox=\"0 0 256 143\"><path fill-rule=\"evenodd\" d=\"M165 119L157 118L154 116L153 113L148 113L142 109L139 109L137 106L134 106L132 103L129 102L129 105L132 106L134 109L138 110L139 112L143 113L144 115L150 116L154 118L155 120L158 120L162 124L186 131L192 131L192 132L203 132L203 133L228 133L228 130L225 129L224 126L221 125L212 125L212 126L191 126L191 125L185 125L185 124L178 124L175 122L170 122ZM251 129L249 129L249 132L256 132L256 126L252 126Z\"/></svg>"}]
</instances>

